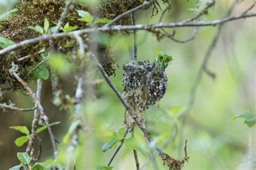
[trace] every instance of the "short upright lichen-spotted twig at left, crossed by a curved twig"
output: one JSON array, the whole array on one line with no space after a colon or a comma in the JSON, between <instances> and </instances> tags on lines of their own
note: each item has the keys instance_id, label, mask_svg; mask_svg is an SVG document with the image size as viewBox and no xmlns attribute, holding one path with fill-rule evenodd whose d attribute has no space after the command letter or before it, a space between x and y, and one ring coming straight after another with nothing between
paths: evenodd
<instances>
[{"instance_id":1,"label":"short upright lichen-spotted twig at left, crossed by a curved twig","mask_svg":"<svg viewBox=\"0 0 256 170\"><path fill-rule=\"evenodd\" d=\"M36 91L36 97L38 98L38 102L41 102L41 91L42 91L42 79L37 80L37 91ZM35 103L35 107L38 107L38 104ZM39 109L37 108L34 111L34 117L33 117L33 122L32 122L32 129L31 129L31 137L29 138L29 143L28 146L26 147L26 153L30 154L30 151L33 147L33 144L35 142L36 138L36 131L37 131L37 126L38 126L38 119L39 119ZM30 155L31 157L33 155Z\"/></svg>"}]
</instances>

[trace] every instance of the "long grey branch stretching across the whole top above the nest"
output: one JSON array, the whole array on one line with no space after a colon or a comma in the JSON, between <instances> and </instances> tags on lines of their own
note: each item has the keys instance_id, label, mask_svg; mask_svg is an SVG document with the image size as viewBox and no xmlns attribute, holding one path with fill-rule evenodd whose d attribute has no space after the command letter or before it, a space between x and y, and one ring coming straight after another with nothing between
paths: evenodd
<instances>
[{"instance_id":1,"label":"long grey branch stretching across the whole top above the nest","mask_svg":"<svg viewBox=\"0 0 256 170\"><path fill-rule=\"evenodd\" d=\"M41 37L36 37L32 39L27 39L17 44L8 46L2 50L0 50L0 56L14 51L15 49L21 48L24 45L36 44L39 41L49 40L51 38L60 38L60 37L70 37L75 34L86 34L91 32L107 32L107 31L124 31L124 30L151 30L157 28L174 28L174 27L194 27L194 26L215 26L218 24L223 24L226 22L231 22L232 20L237 20L241 18L255 17L256 13L239 13L238 15L232 17L226 17L223 19L213 20L211 22L194 22L194 23L157 23L157 24L149 24L149 25L115 25L115 26L103 26L103 27L95 27L84 30L70 31L67 33L56 33L54 35L43 35Z\"/></svg>"}]
</instances>

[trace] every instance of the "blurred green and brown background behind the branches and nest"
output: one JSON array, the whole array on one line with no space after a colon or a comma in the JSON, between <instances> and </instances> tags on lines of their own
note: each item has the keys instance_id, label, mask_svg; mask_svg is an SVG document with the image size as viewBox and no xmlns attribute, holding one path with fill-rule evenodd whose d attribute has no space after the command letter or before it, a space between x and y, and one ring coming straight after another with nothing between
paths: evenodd
<instances>
[{"instance_id":1,"label":"blurred green and brown background behind the branches and nest","mask_svg":"<svg viewBox=\"0 0 256 170\"><path fill-rule=\"evenodd\" d=\"M233 1L217 1L214 8L208 11L203 20L213 20L225 15ZM18 1L0 0L0 13L8 11ZM252 5L253 1L242 1L233 10L232 15L242 12ZM161 4L164 8L165 6ZM163 22L178 22L193 16L196 1L173 1L172 10L166 13ZM137 24L157 23L160 13L151 18L151 11L141 10L136 12ZM252 9L255 12L255 8ZM186 39L191 36L193 28L179 28L176 30L177 39ZM198 70L214 38L217 26L200 27L196 38L186 44L179 44L171 39L164 38L160 42L152 33L138 31L138 60L153 61L156 55L163 51L173 56L173 61L166 69L169 79L164 98L146 111L146 128L152 137L157 139L159 146L163 146L170 138L177 123L178 134L164 149L172 157L181 159L183 150L179 153L179 145L187 142L189 163L184 169L253 169L256 160L256 130L248 128L242 119L231 121L232 117L241 112L255 114L255 83L256 83L256 20L247 18L226 23L221 31L208 68L216 75L211 79L203 75L200 81L193 108L186 116L185 125L180 119L173 120L173 115L185 109L190 88L196 79ZM169 31L169 30L168 30ZM170 32L172 30L170 29ZM123 63L132 59L133 41L131 36L112 37L112 49L118 66L115 77L111 80L122 91ZM100 79L103 77L99 75ZM62 77L65 93L74 95L76 81L70 82L72 75ZM70 114L60 111L52 104L50 80L43 82L42 104L50 122L60 121L53 126L53 132L61 142L58 150L65 164L67 145L62 143L65 133L70 126ZM35 83L30 84L35 89ZM101 147L106 143L109 134L123 128L124 107L110 87L105 83L100 86L97 100L84 102L85 131L80 132L79 146L77 148L77 169L95 169L97 165L106 165L115 148L102 152ZM29 108L33 103L29 96L24 96L21 91L6 93L4 101L11 100L18 107ZM3 101L3 102L4 102ZM9 129L9 126L26 125L31 128L33 112L7 111L0 114L0 169L8 169L19 164L17 152L25 152L25 147L17 147L14 140L21 136L18 131ZM183 138L180 140L180 130ZM136 129L136 133L142 136ZM130 136L130 134L128 134ZM40 161L52 156L52 147L47 131L42 132L43 154ZM146 145L140 137L142 145ZM154 151L153 151L154 152ZM138 153L140 165L147 163L148 159ZM149 156L148 156L149 158ZM158 169L167 169L162 160L156 157ZM123 146L111 164L114 169L135 169L133 153ZM152 161L144 169L154 169Z\"/></svg>"}]
</instances>

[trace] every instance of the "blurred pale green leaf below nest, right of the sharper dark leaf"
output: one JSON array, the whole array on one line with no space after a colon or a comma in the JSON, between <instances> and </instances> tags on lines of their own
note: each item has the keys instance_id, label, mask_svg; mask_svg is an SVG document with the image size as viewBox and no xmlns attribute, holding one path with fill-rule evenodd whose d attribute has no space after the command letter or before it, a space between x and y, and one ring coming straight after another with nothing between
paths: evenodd
<instances>
[{"instance_id":1,"label":"blurred pale green leaf below nest, right of the sharper dark leaf","mask_svg":"<svg viewBox=\"0 0 256 170\"><path fill-rule=\"evenodd\" d=\"M126 147L128 147L132 150L139 151L140 153L143 154L143 156L145 158L147 158L146 148L142 143L140 143L139 140L137 140L137 138L134 138L134 137L127 138L127 139L124 140L124 144L125 144Z\"/></svg>"}]
</instances>

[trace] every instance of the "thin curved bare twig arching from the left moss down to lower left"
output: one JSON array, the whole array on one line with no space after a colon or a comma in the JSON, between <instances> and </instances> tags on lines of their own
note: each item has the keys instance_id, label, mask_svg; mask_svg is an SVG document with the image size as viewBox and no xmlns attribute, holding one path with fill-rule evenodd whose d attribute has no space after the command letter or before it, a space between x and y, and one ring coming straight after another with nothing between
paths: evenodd
<instances>
[{"instance_id":1,"label":"thin curved bare twig arching from the left moss down to lower left","mask_svg":"<svg viewBox=\"0 0 256 170\"><path fill-rule=\"evenodd\" d=\"M44 122L45 122L45 124L47 126L47 129L48 129L48 132L49 132L49 135L50 135L50 138L51 138L54 158L57 159L58 158L58 150L57 150L55 136L52 133L51 126L50 126L50 123L49 123L49 118L46 116L41 102L39 102L36 94L28 86L28 83L26 83L24 80L22 80L21 77L19 77L19 75L17 73L15 73L15 72L13 72L11 70L9 72L10 72L11 75L13 75L18 80L18 82L20 82L22 84L24 89L26 89L26 91L28 91L29 95L33 98L35 103L38 105L38 109L39 109L39 111L40 111L40 113L41 113L41 115L42 115L42 117L44 119Z\"/></svg>"}]
</instances>

